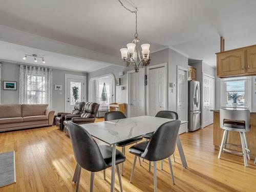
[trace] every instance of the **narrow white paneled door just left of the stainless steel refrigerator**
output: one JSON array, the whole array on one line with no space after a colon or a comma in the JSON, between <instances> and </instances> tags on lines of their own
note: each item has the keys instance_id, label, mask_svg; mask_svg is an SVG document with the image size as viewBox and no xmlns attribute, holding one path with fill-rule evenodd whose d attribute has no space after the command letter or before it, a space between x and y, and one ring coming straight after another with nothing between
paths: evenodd
<instances>
[{"instance_id":1,"label":"narrow white paneled door just left of the stainless steel refrigerator","mask_svg":"<svg viewBox=\"0 0 256 192\"><path fill-rule=\"evenodd\" d=\"M177 81L177 113L180 120L187 120L187 109L186 109L186 72L178 70L178 81Z\"/></svg>"}]
</instances>

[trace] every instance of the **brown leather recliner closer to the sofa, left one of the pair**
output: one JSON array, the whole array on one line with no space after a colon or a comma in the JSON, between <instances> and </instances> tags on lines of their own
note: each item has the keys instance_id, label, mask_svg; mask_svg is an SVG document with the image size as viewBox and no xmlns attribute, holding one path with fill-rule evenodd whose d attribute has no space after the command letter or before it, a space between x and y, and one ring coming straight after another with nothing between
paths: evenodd
<instances>
[{"instance_id":1,"label":"brown leather recliner closer to the sofa, left one of the pair","mask_svg":"<svg viewBox=\"0 0 256 192\"><path fill-rule=\"evenodd\" d=\"M63 121L65 121L65 117L67 115L81 115L83 109L84 109L84 106L86 105L85 102L81 101L77 101L75 103L75 106L74 106L74 110L71 112L71 113L63 113L63 112L60 112L60 113L57 113L57 117L55 117L55 123L56 123L56 126L60 129L60 130L63 130Z\"/></svg>"}]
</instances>

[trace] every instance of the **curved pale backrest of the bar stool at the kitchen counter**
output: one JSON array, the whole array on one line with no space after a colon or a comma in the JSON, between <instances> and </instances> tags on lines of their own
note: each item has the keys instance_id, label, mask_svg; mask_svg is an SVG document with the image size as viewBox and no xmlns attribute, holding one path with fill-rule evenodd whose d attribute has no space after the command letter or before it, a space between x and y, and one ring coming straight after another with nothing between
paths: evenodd
<instances>
[{"instance_id":1,"label":"curved pale backrest of the bar stool at the kitchen counter","mask_svg":"<svg viewBox=\"0 0 256 192\"><path fill-rule=\"evenodd\" d=\"M220 127L222 129L230 131L239 131L237 128L227 128L224 126L224 121L243 121L245 123L245 130L240 131L250 131L250 111L249 110L229 110L229 109L220 109Z\"/></svg>"}]
</instances>

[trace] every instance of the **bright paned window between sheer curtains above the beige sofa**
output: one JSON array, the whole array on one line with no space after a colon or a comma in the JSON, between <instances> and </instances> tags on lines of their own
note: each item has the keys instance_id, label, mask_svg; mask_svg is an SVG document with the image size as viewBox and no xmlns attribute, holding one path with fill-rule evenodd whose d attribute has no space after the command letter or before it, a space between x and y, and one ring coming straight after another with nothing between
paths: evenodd
<instances>
[{"instance_id":1,"label":"bright paned window between sheer curtains above the beige sofa","mask_svg":"<svg viewBox=\"0 0 256 192\"><path fill-rule=\"evenodd\" d=\"M27 76L27 103L46 103L46 81L45 76Z\"/></svg>"}]
</instances>

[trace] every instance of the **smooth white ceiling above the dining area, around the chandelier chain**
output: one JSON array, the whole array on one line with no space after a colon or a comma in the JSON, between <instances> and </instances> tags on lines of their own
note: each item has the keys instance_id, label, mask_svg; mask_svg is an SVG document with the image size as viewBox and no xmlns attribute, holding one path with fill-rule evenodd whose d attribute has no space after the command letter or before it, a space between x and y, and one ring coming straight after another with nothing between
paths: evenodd
<instances>
[{"instance_id":1,"label":"smooth white ceiling above the dining area, around the chandelier chain","mask_svg":"<svg viewBox=\"0 0 256 192\"><path fill-rule=\"evenodd\" d=\"M216 66L220 35L226 50L256 44L255 0L127 1L138 7L139 38L152 51L170 46ZM135 17L117 0L0 0L0 25L119 57Z\"/></svg>"}]
</instances>

